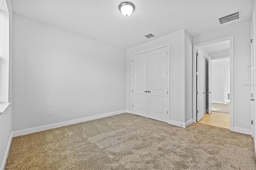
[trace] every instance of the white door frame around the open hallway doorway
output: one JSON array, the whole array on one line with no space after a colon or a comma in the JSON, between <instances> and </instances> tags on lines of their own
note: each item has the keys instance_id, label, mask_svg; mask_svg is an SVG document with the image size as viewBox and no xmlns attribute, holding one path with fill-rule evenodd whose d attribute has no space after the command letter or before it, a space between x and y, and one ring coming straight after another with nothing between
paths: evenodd
<instances>
[{"instance_id":1,"label":"white door frame around the open hallway doorway","mask_svg":"<svg viewBox=\"0 0 256 170\"><path fill-rule=\"evenodd\" d=\"M234 36L228 36L208 42L193 45L193 71L192 71L192 120L196 123L196 49L203 45L230 40L230 130L234 128Z\"/></svg>"}]
</instances>

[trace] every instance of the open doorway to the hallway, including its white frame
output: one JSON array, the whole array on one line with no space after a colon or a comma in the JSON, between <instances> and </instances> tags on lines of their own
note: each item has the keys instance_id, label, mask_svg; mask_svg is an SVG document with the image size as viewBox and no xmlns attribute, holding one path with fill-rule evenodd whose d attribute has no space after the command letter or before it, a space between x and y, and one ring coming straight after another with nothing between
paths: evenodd
<instances>
[{"instance_id":1,"label":"open doorway to the hallway, including its white frame","mask_svg":"<svg viewBox=\"0 0 256 170\"><path fill-rule=\"evenodd\" d=\"M193 49L193 122L232 130L233 36Z\"/></svg>"}]
</instances>

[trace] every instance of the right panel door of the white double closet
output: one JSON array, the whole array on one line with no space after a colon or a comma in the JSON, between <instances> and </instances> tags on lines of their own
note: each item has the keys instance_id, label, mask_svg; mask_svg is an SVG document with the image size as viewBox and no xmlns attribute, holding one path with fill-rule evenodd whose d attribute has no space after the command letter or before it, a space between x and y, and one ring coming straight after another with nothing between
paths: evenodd
<instances>
[{"instance_id":1,"label":"right panel door of the white double closet","mask_svg":"<svg viewBox=\"0 0 256 170\"><path fill-rule=\"evenodd\" d=\"M148 117L168 122L168 47L148 52Z\"/></svg>"}]
</instances>

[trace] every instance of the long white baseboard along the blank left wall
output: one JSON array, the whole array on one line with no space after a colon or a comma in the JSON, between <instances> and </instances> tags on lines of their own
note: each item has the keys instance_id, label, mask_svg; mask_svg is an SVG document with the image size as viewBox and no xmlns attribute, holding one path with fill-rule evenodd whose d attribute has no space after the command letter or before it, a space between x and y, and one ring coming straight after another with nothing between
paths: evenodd
<instances>
[{"instance_id":1,"label":"long white baseboard along the blank left wall","mask_svg":"<svg viewBox=\"0 0 256 170\"><path fill-rule=\"evenodd\" d=\"M58 128L58 127L73 125L73 124L76 124L76 123L92 121L94 119L100 119L100 118L109 117L109 116L112 116L112 115L118 115L118 114L121 114L121 113L126 113L126 110L115 111L115 112L110 112L110 113L104 113L104 114L101 114L101 115L84 117L84 118L80 118L80 119L74 119L74 120L71 120L71 121L54 123L54 124L44 125L44 126L40 126L40 127L34 127L34 128L23 129L23 130L17 130L17 131L12 132L12 136L16 137L16 136L22 136L22 135L25 135L25 134L41 132L41 131L49 130L49 129L52 129L52 128Z\"/></svg>"}]
</instances>

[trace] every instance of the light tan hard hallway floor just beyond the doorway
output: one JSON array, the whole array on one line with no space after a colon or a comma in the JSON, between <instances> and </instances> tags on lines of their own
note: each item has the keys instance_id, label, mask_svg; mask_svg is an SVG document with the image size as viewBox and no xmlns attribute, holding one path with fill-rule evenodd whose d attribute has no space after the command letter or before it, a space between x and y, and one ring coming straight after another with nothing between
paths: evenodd
<instances>
[{"instance_id":1,"label":"light tan hard hallway floor just beyond the doorway","mask_svg":"<svg viewBox=\"0 0 256 170\"><path fill-rule=\"evenodd\" d=\"M204 114L204 118L202 118L198 123L229 129L230 114L212 111L210 115L208 113Z\"/></svg>"}]
</instances>

